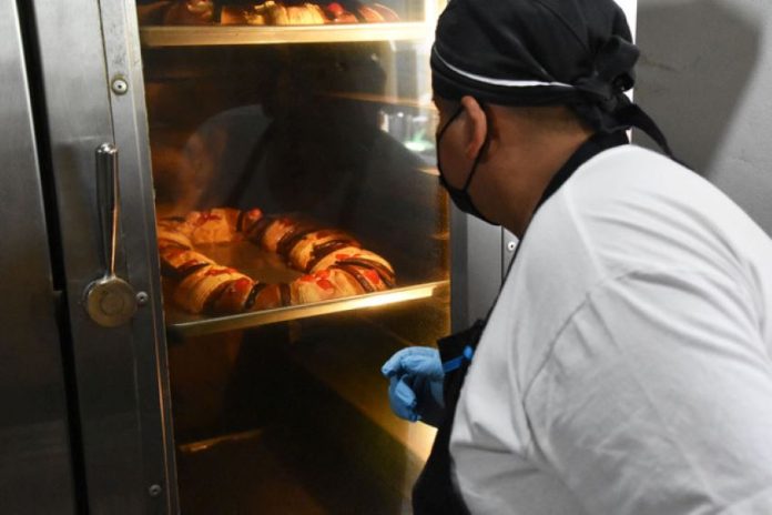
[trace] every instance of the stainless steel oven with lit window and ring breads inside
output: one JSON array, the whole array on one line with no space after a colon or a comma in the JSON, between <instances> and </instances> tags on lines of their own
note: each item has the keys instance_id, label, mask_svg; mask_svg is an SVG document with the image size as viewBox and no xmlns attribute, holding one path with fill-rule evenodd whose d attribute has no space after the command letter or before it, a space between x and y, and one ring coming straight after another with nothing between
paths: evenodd
<instances>
[{"instance_id":1,"label":"stainless steel oven with lit window and ring breads inside","mask_svg":"<svg viewBox=\"0 0 772 515\"><path fill-rule=\"evenodd\" d=\"M0 0L4 512L409 511L379 366L515 244L438 186L441 8Z\"/></svg>"}]
</instances>

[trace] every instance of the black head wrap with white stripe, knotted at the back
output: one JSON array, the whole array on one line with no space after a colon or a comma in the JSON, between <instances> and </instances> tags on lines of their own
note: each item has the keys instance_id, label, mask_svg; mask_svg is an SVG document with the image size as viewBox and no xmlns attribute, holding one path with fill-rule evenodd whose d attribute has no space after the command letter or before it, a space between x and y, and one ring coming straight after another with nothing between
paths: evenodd
<instances>
[{"instance_id":1,"label":"black head wrap with white stripe, knotted at the back","mask_svg":"<svg viewBox=\"0 0 772 515\"><path fill-rule=\"evenodd\" d=\"M637 127L671 154L624 94L638 57L613 0L450 0L431 51L433 87L448 100L567 104L597 131Z\"/></svg>"}]
</instances>

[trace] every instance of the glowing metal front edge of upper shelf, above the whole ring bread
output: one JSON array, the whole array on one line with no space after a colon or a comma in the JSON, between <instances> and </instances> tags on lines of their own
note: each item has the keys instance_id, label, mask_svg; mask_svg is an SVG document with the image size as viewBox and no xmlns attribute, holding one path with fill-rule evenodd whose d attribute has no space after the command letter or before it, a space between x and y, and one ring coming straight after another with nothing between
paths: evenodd
<instances>
[{"instance_id":1,"label":"glowing metal front edge of upper shelf, above the whole ring bread","mask_svg":"<svg viewBox=\"0 0 772 515\"><path fill-rule=\"evenodd\" d=\"M338 43L421 40L431 36L426 22L351 23L339 26L248 27L206 26L140 28L145 48L224 44Z\"/></svg>"}]
</instances>

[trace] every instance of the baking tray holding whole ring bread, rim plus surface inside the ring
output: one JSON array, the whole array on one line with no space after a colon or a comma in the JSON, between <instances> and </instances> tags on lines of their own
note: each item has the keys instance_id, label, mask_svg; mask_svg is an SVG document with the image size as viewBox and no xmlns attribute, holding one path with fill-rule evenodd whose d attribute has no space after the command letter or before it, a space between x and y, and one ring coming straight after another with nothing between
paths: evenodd
<instances>
[{"instance_id":1,"label":"baking tray holding whole ring bread, rim plus surface inside the ring","mask_svg":"<svg viewBox=\"0 0 772 515\"><path fill-rule=\"evenodd\" d=\"M220 264L235 267L255 280L267 283L292 282L303 275L302 272L287 267L276 254L263 251L250 242L199 246L196 250ZM276 322L427 299L439 293L443 289L447 291L449 285L447 280L428 282L416 282L414 280L413 284L399 285L399 279L400 274L399 270L397 270L398 286L384 292L226 316L193 315L184 312L173 303L166 302L164 310L166 331L170 337L184 339L243 330ZM165 297L170 299L170 296L166 292Z\"/></svg>"}]
</instances>

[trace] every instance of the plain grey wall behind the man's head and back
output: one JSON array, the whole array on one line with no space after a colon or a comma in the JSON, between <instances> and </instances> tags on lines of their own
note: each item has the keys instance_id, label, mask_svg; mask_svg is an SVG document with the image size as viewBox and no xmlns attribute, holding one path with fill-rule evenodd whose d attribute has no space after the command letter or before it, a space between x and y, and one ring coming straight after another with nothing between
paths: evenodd
<instances>
[{"instance_id":1,"label":"plain grey wall behind the man's head and back","mask_svg":"<svg viewBox=\"0 0 772 515\"><path fill-rule=\"evenodd\" d=\"M772 234L772 1L638 0L637 37L636 101Z\"/></svg>"}]
</instances>

